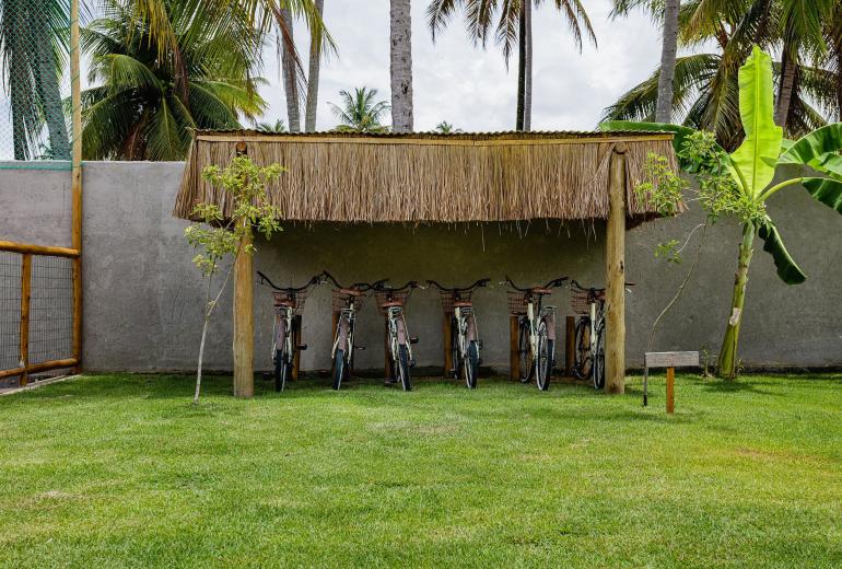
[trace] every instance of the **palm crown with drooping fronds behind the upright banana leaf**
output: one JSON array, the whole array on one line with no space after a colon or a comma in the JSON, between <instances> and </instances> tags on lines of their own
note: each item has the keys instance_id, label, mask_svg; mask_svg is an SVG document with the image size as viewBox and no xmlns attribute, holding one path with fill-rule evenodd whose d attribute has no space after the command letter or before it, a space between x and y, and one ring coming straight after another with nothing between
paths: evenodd
<instances>
[{"instance_id":1,"label":"palm crown with drooping fronds behind the upright banana leaf","mask_svg":"<svg viewBox=\"0 0 842 569\"><path fill-rule=\"evenodd\" d=\"M729 0L725 3L686 0L682 3L679 14L682 44L698 47L713 43L718 50L676 59L671 121L715 132L726 150L740 144L738 70L753 44L770 50L781 46L783 32L779 23L785 21L782 12L785 1L790 0ZM654 5L653 16L663 15L663 4L638 0L630 0L629 4ZM805 9L810 7L805 5ZM780 63L774 66L779 84L781 68ZM827 103L827 91L832 89L823 69L802 61L795 69L785 120L785 135L790 138L798 138L827 124L815 104ZM658 69L608 107L603 119L655 120L659 79Z\"/></svg>"}]
</instances>

